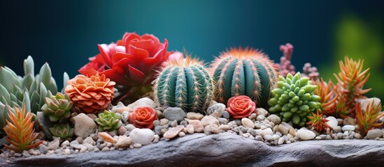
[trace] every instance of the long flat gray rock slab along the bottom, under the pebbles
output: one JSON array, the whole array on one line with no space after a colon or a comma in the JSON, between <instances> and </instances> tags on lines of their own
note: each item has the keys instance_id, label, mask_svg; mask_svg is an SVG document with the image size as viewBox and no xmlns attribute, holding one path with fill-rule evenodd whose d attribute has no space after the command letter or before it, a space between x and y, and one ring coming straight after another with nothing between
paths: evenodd
<instances>
[{"instance_id":1,"label":"long flat gray rock slab along the bottom, under the pebbles","mask_svg":"<svg viewBox=\"0 0 384 167\"><path fill-rule=\"evenodd\" d=\"M299 141L269 146L222 133L192 134L142 148L0 159L0 166L380 166L384 141Z\"/></svg>"}]
</instances>

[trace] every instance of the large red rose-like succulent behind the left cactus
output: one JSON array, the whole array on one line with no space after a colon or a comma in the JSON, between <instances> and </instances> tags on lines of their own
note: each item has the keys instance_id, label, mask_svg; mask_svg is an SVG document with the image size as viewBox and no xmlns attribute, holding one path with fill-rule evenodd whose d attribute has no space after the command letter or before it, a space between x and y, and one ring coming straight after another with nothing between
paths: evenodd
<instances>
[{"instance_id":1,"label":"large red rose-like succulent behind the left cactus","mask_svg":"<svg viewBox=\"0 0 384 167\"><path fill-rule=\"evenodd\" d=\"M122 40L98 47L100 54L90 58L90 63L78 71L85 76L97 71L115 81L118 92L115 94L114 104L128 104L149 93L157 68L172 53L166 51L166 39L160 42L152 34L125 33Z\"/></svg>"}]
</instances>

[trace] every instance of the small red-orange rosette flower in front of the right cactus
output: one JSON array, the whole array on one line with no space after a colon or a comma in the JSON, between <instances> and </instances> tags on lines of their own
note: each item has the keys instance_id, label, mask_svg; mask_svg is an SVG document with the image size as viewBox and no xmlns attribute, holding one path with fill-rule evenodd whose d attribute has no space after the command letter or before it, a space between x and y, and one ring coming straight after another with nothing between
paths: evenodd
<instances>
[{"instance_id":1,"label":"small red-orange rosette flower in front of the right cactus","mask_svg":"<svg viewBox=\"0 0 384 167\"><path fill-rule=\"evenodd\" d=\"M257 113L255 102L246 95L231 97L227 106L229 115L235 119L246 118L252 113Z\"/></svg>"}]
</instances>

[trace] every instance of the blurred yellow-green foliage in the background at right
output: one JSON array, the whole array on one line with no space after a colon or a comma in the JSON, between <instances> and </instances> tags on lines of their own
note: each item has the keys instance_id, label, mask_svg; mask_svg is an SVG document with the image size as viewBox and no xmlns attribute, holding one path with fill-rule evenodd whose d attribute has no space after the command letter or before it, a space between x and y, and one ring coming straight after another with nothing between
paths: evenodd
<instances>
[{"instance_id":1,"label":"blurred yellow-green foliage in the background at right","mask_svg":"<svg viewBox=\"0 0 384 167\"><path fill-rule=\"evenodd\" d=\"M371 76L364 88L372 88L367 93L368 97L378 97L384 100L383 60L384 60L384 41L383 24L381 19L364 20L351 13L345 14L336 24L334 34L334 56L329 61L319 65L320 76L325 79L336 81L334 73L339 72L339 61L344 56L349 56L355 60L364 59L363 70L370 68Z\"/></svg>"}]
</instances>

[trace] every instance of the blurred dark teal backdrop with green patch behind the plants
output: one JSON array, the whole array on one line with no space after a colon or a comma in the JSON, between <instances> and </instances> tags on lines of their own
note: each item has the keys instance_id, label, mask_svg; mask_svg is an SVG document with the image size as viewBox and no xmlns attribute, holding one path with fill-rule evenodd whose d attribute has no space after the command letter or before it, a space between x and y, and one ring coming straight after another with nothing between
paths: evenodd
<instances>
[{"instance_id":1,"label":"blurred dark teal backdrop with green patch behind the plants","mask_svg":"<svg viewBox=\"0 0 384 167\"><path fill-rule=\"evenodd\" d=\"M382 1L1 1L0 64L22 75L31 55L35 71L48 62L61 87L62 72L74 77L98 53L97 44L125 32L166 38L169 50L185 49L206 63L238 46L279 61L279 46L290 42L297 70L311 62L325 78L347 54L371 60L364 67L371 67L369 86L377 93L370 95L383 98L374 83L384 81L383 7Z\"/></svg>"}]
</instances>

